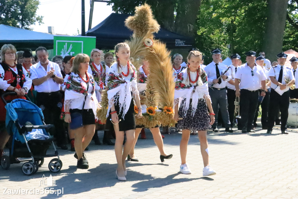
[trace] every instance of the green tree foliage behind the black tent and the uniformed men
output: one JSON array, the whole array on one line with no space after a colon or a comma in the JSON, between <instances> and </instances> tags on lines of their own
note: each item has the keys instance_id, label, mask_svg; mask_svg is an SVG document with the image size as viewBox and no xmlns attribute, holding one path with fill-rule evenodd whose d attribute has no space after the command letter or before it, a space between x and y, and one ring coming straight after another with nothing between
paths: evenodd
<instances>
[{"instance_id":1,"label":"green tree foliage behind the black tent and the uniformed men","mask_svg":"<svg viewBox=\"0 0 298 199\"><path fill-rule=\"evenodd\" d=\"M114 11L134 13L134 7L146 0L111 0ZM163 27L177 31L179 5L189 0L147 0L156 20ZM209 63L210 51L223 49L223 57L238 53L245 61L244 53L264 50L268 1L251 0L202 0L195 23L195 47L206 55ZM281 13L276 13L280 15ZM275 24L278 26L278 24ZM289 0L283 37L283 50L298 51L298 0ZM273 41L274 42L274 41ZM229 48L228 48L229 47Z\"/></svg>"}]
</instances>

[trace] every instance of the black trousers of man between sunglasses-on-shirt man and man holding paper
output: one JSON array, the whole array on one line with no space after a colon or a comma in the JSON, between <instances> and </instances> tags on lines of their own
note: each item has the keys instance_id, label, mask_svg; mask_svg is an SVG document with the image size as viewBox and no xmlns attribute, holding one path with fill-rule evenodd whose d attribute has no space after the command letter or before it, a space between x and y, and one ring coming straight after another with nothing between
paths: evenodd
<instances>
[{"instance_id":1,"label":"black trousers of man between sunglasses-on-shirt man and man holding paper","mask_svg":"<svg viewBox=\"0 0 298 199\"><path fill-rule=\"evenodd\" d=\"M261 90L259 90L259 95L261 96ZM263 102L261 103L258 101L257 105L257 111L256 114L254 115L254 126L257 126L257 118L259 116L259 110L260 110L260 105L262 108L262 117L261 117L261 123L262 123L262 128L268 128L267 122L268 122L268 108L269 108L269 97L270 97L270 91L265 92L265 97L263 99Z\"/></svg>"}]
</instances>

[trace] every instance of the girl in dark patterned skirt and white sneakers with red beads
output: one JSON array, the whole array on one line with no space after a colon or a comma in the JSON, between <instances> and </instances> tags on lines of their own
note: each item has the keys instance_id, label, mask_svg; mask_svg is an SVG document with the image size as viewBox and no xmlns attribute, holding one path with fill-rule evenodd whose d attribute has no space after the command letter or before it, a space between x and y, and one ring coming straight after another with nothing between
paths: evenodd
<instances>
[{"instance_id":1,"label":"girl in dark patterned skirt and white sneakers with red beads","mask_svg":"<svg viewBox=\"0 0 298 199\"><path fill-rule=\"evenodd\" d=\"M191 174L190 168L186 163L187 144L190 131L198 131L204 163L203 176L214 175L216 174L215 171L209 166L207 130L211 128L211 124L214 123L215 114L212 110L208 92L207 75L205 71L200 68L202 53L195 50L190 51L187 59L189 63L188 67L177 76L174 97L176 99L174 119L178 121L177 127L182 129L180 142L180 172L183 174ZM179 112L178 98L182 99ZM208 113L207 107L210 113Z\"/></svg>"}]
</instances>

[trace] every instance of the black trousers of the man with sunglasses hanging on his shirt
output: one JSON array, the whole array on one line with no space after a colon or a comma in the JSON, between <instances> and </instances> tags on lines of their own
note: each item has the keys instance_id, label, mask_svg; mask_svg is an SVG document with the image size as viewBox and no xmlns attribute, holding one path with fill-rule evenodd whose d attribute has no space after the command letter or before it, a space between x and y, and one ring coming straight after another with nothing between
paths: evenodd
<instances>
[{"instance_id":1,"label":"black trousers of the man with sunglasses hanging on his shirt","mask_svg":"<svg viewBox=\"0 0 298 199\"><path fill-rule=\"evenodd\" d=\"M253 128L254 115L256 114L257 105L259 100L259 90L249 91L246 89L240 90L240 116L242 128L246 127L247 130Z\"/></svg>"}]
</instances>

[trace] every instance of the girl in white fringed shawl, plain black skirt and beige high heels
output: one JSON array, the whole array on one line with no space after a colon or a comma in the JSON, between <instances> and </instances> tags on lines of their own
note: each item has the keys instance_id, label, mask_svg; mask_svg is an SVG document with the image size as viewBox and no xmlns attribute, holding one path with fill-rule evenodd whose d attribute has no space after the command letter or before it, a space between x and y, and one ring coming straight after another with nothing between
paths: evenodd
<instances>
[{"instance_id":1,"label":"girl in white fringed shawl, plain black skirt and beige high heels","mask_svg":"<svg viewBox=\"0 0 298 199\"><path fill-rule=\"evenodd\" d=\"M109 69L107 80L109 105L106 129L112 124L114 125L116 132L116 177L118 180L126 180L125 159L134 144L136 129L134 100L139 110L136 117L142 117L142 108L136 83L136 68L129 61L130 48L128 44L117 44L115 54L117 62ZM126 142L123 148L124 133L126 134Z\"/></svg>"}]
</instances>

